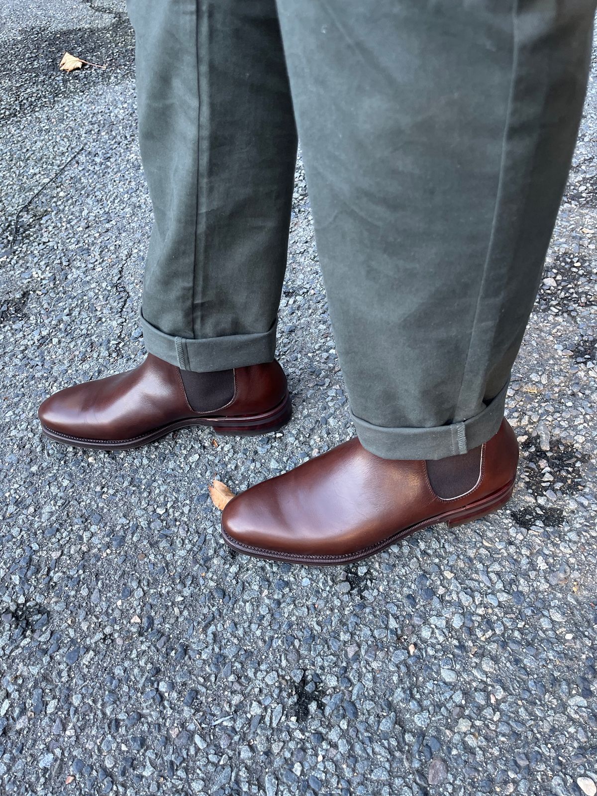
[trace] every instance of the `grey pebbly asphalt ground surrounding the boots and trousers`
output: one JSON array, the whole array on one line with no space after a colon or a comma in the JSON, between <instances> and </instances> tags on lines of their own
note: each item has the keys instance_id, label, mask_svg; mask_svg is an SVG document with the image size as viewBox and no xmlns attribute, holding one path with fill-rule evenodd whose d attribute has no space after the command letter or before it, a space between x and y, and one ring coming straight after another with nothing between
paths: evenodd
<instances>
[{"instance_id":1,"label":"grey pebbly asphalt ground surrounding the boots and trousers","mask_svg":"<svg viewBox=\"0 0 597 796\"><path fill-rule=\"evenodd\" d=\"M595 794L595 77L509 394L511 505L320 570L234 556L207 493L353 434L302 170L287 430L54 447L43 397L142 358L132 37L120 0L7 0L0 21L0 251L84 146L0 261L0 792ZM67 49L108 68L59 73Z\"/></svg>"}]
</instances>

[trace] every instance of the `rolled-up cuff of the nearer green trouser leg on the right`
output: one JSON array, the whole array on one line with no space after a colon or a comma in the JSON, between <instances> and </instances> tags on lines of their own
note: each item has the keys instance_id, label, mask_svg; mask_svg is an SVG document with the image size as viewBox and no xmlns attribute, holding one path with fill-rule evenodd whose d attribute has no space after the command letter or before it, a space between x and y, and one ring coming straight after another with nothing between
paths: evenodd
<instances>
[{"instance_id":1,"label":"rolled-up cuff of the nearer green trouser leg on the right","mask_svg":"<svg viewBox=\"0 0 597 796\"><path fill-rule=\"evenodd\" d=\"M436 459L472 451L497 434L504 417L508 383L478 415L434 428L387 428L374 426L350 415L361 445L381 458Z\"/></svg>"}]
</instances>

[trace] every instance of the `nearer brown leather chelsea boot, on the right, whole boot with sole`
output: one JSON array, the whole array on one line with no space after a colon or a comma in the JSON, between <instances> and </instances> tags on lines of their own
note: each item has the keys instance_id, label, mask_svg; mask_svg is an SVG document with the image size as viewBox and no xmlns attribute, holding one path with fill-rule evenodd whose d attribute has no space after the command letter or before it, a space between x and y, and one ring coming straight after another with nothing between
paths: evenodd
<instances>
[{"instance_id":1,"label":"nearer brown leather chelsea boot, on the right, whole boot with sole","mask_svg":"<svg viewBox=\"0 0 597 796\"><path fill-rule=\"evenodd\" d=\"M489 442L435 462L380 458L355 438L233 497L222 535L250 556L347 564L428 525L496 511L512 494L517 463L505 420Z\"/></svg>"}]
</instances>

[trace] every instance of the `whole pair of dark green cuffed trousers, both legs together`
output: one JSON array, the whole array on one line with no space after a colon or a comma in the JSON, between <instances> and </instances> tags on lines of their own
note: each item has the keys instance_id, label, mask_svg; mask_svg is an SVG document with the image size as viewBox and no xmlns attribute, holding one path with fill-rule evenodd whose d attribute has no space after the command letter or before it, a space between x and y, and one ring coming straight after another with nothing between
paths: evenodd
<instances>
[{"instance_id":1,"label":"whole pair of dark green cuffed trousers, both legs together","mask_svg":"<svg viewBox=\"0 0 597 796\"><path fill-rule=\"evenodd\" d=\"M586 91L595 0L128 0L154 209L142 329L269 361L297 127L361 443L497 431Z\"/></svg>"}]
</instances>

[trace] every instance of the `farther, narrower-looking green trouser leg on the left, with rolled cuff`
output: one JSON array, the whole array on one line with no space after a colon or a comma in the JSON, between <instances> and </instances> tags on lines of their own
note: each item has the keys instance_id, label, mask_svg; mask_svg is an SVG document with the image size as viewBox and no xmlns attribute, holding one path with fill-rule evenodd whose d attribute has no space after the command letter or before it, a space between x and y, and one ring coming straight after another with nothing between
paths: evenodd
<instances>
[{"instance_id":1,"label":"farther, narrower-looking green trouser leg on the left, with rolled cuff","mask_svg":"<svg viewBox=\"0 0 597 796\"><path fill-rule=\"evenodd\" d=\"M182 369L270 361L296 130L275 0L127 0L154 209L142 329Z\"/></svg>"}]
</instances>

